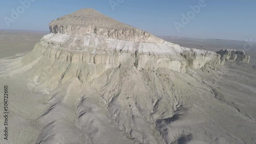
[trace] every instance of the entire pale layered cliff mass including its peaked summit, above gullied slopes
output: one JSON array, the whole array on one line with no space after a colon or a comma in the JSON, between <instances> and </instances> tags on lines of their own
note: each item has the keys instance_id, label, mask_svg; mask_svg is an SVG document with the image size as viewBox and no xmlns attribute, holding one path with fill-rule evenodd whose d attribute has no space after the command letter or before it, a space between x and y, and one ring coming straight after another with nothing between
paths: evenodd
<instances>
[{"instance_id":1,"label":"entire pale layered cliff mass including its peaked summit, above gullied slopes","mask_svg":"<svg viewBox=\"0 0 256 144\"><path fill-rule=\"evenodd\" d=\"M120 66L184 73L188 67L221 64L215 52L181 47L93 9L60 17L49 26L51 33L22 60L26 65L40 58L32 76L37 83L57 86L73 77L91 82L108 68Z\"/></svg>"}]
</instances>

